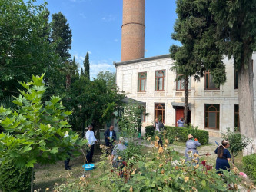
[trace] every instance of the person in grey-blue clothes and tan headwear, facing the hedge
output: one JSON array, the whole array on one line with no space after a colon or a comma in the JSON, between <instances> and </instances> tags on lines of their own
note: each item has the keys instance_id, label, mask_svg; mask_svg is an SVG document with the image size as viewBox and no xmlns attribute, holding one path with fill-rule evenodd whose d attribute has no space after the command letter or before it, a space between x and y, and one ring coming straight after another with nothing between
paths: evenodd
<instances>
[{"instance_id":1,"label":"person in grey-blue clothes and tan headwear, facing the hedge","mask_svg":"<svg viewBox=\"0 0 256 192\"><path fill-rule=\"evenodd\" d=\"M185 158L186 161L191 161L191 157L193 158L194 154L198 154L197 147L201 146L197 139L194 139L193 135L188 134L188 141L186 142L186 149L185 149ZM199 163L199 157L196 157L196 164Z\"/></svg>"}]
</instances>

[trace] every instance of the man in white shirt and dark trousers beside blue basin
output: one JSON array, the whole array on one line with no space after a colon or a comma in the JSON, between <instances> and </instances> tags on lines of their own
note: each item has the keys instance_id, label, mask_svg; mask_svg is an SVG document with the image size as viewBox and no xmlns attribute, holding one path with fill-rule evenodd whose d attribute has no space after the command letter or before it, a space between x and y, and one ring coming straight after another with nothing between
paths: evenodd
<instances>
[{"instance_id":1,"label":"man in white shirt and dark trousers beside blue basin","mask_svg":"<svg viewBox=\"0 0 256 192\"><path fill-rule=\"evenodd\" d=\"M88 126L88 131L86 131L85 137L88 141L88 146L90 147L88 154L86 155L86 159L88 163L93 163L92 156L95 151L95 142L98 143L97 139L95 138L95 133L92 131L92 125Z\"/></svg>"}]
</instances>

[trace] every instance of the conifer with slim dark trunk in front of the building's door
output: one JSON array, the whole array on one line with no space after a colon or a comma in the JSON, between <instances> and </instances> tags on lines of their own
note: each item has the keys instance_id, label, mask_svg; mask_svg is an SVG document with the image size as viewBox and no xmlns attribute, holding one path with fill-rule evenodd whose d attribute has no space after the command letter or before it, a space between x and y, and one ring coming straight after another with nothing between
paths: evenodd
<instances>
[{"instance_id":1,"label":"conifer with slim dark trunk in front of the building's door","mask_svg":"<svg viewBox=\"0 0 256 192\"><path fill-rule=\"evenodd\" d=\"M211 17L205 17L205 15L198 12L198 5L196 1L192 0L177 0L178 19L175 22L174 33L171 38L181 42L182 46L172 45L170 48L171 58L175 59L175 66L172 68L178 74L177 80L184 79L185 81L185 123L187 123L188 114L188 83L189 77L194 76L195 80L200 80L204 75L204 71L211 71L214 77L214 83L224 84L225 68L221 60L222 55L219 54L218 48L214 48L211 45L208 49L211 53L215 53L215 58L211 58L212 55L208 55L208 58L202 58L202 55L198 55L196 50L198 41L205 33L208 32L208 26L215 26L215 22ZM214 41L214 38L212 38ZM212 41L211 41L212 43ZM218 70L216 70L218 68ZM222 77L218 74L222 74Z\"/></svg>"}]
</instances>

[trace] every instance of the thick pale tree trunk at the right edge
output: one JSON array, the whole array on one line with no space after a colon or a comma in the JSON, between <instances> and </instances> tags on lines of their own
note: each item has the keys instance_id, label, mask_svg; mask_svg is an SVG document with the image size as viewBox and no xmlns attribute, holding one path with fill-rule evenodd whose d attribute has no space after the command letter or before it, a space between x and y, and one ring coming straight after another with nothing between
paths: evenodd
<instances>
[{"instance_id":1,"label":"thick pale tree trunk at the right edge","mask_svg":"<svg viewBox=\"0 0 256 192\"><path fill-rule=\"evenodd\" d=\"M238 71L238 101L241 134L253 139L243 151L244 156L256 152L256 130L254 120L254 89L251 58L249 65L242 65Z\"/></svg>"}]
</instances>

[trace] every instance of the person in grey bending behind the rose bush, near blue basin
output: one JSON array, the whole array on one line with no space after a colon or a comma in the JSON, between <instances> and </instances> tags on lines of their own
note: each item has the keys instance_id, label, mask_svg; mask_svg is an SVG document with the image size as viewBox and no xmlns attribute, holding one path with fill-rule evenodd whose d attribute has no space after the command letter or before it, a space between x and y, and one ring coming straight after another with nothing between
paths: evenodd
<instances>
[{"instance_id":1,"label":"person in grey bending behind the rose bush, near blue basin","mask_svg":"<svg viewBox=\"0 0 256 192\"><path fill-rule=\"evenodd\" d=\"M125 149L127 149L127 147L125 146L125 138L120 137L119 144L115 145L111 154L111 161L112 161L113 167L115 168L124 167L124 164L122 163L123 162L122 153L125 151ZM119 159L118 157L121 157L121 158Z\"/></svg>"}]
</instances>

